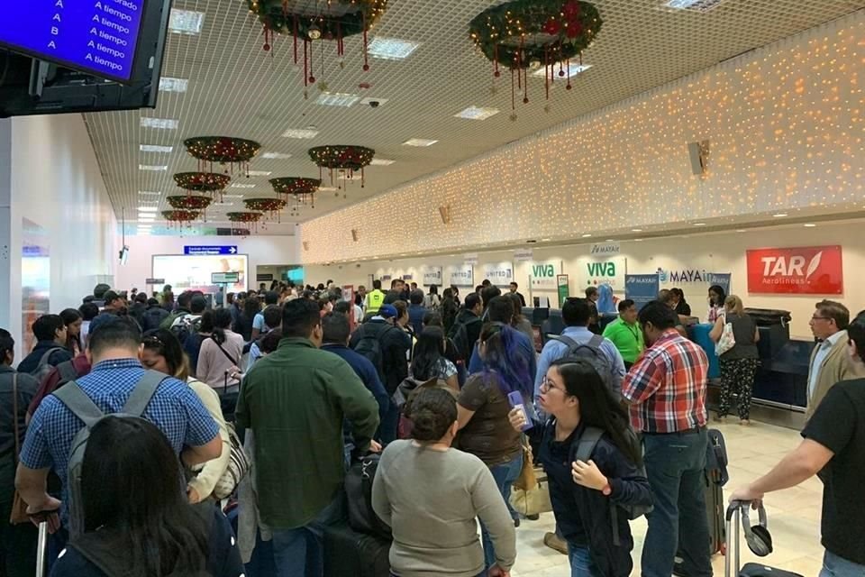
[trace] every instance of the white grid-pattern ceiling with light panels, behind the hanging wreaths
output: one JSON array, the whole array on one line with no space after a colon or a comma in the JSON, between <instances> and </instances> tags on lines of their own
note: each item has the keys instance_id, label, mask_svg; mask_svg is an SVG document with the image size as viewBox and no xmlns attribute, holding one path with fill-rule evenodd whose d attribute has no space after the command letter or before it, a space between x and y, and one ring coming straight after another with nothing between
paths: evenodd
<instances>
[{"instance_id":1,"label":"white grid-pattern ceiling with light panels, behind the hanging wreaths","mask_svg":"<svg viewBox=\"0 0 865 577\"><path fill-rule=\"evenodd\" d=\"M344 68L335 44L323 42L325 71L319 69L322 42L316 42L318 82L304 98L301 71L294 68L290 37L278 37L275 50L265 53L259 23L245 0L175 0L174 8L205 13L199 35L168 34L162 74L187 78L183 94L161 93L155 110L87 114L87 127L105 184L118 215L134 215L150 201L168 209L164 198L182 194L171 178L175 172L195 170L196 160L183 148L190 136L214 134L249 138L262 151L291 154L289 159L253 160L251 169L270 176L228 188L230 195L273 197L269 178L318 177L306 150L323 144L358 144L376 149L389 166L367 169L367 184L351 182L347 190L319 195L315 208L300 215L286 212L282 223L267 224L260 234L292 234L294 223L351 205L423 175L491 151L507 142L540 132L580 114L612 105L675 78L706 69L744 51L806 30L819 23L865 7L862 0L722 0L706 14L664 9L661 0L597 0L604 26L587 50L587 72L573 78L566 92L556 83L551 99L543 98L543 78L531 78L530 103L517 102L511 119L510 78L494 83L491 64L469 41L468 23L489 5L488 0L390 0L387 13L371 38L419 42L406 60L371 59L361 70L360 37L346 40ZM334 107L315 104L322 80L334 93L387 100L378 108L356 104ZM369 89L360 88L369 83ZM501 110L485 121L464 120L454 114L468 106ZM142 128L141 117L179 121L178 130ZM288 129L314 126L312 140L283 138ZM411 138L437 140L426 148L405 146ZM173 146L170 153L142 152L141 144ZM165 171L142 171L139 165L166 166ZM324 186L328 186L325 176ZM139 191L161 192L141 196ZM159 201L154 204L152 201ZM208 210L211 224L226 225L226 211L243 210L240 197L231 206ZM134 220L134 218L133 218ZM157 226L159 226L157 220Z\"/></svg>"}]
</instances>

